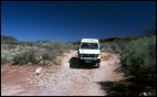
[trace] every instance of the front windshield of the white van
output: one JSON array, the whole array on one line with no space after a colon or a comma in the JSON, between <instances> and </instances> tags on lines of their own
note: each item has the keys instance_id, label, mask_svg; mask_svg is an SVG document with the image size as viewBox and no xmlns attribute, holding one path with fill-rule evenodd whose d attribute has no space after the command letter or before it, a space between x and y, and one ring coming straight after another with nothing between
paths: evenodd
<instances>
[{"instance_id":1,"label":"front windshield of the white van","mask_svg":"<svg viewBox=\"0 0 157 97\"><path fill-rule=\"evenodd\" d=\"M82 43L81 48L85 50L98 50L98 44L97 43Z\"/></svg>"}]
</instances>

